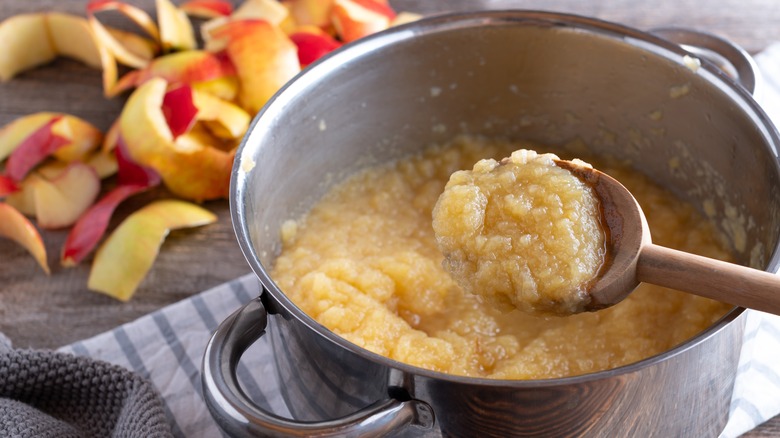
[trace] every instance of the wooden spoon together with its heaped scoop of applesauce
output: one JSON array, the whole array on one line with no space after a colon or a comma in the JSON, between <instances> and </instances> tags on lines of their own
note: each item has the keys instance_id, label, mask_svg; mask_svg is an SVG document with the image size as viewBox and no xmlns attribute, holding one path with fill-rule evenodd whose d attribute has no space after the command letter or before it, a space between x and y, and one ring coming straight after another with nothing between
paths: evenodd
<instances>
[{"instance_id":1,"label":"wooden spoon together with its heaped scoop of applesauce","mask_svg":"<svg viewBox=\"0 0 780 438\"><path fill-rule=\"evenodd\" d=\"M502 308L596 311L647 282L780 314L776 275L654 244L631 192L582 160L481 160L452 174L433 228L455 280Z\"/></svg>"}]
</instances>

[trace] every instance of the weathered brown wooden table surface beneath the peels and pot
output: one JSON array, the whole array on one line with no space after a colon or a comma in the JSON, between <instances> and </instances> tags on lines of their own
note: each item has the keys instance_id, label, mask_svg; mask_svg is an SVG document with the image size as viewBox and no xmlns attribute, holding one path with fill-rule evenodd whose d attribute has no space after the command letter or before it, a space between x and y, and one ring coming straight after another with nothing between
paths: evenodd
<instances>
[{"instance_id":1,"label":"weathered brown wooden table surface beneath the peels and pot","mask_svg":"<svg viewBox=\"0 0 780 438\"><path fill-rule=\"evenodd\" d=\"M133 1L153 10L153 0ZM479 8L520 8L588 15L640 29L687 26L727 37L751 53L780 41L780 2L775 0L391 0L398 10L436 13ZM11 15L57 10L84 14L86 0L0 1L0 20ZM1 49L0 49L1 50ZM122 107L122 99L102 96L100 73L66 59L24 73L0 84L0 125L37 111L62 111L107 129ZM115 215L112 227L159 190L131 199ZM45 231L51 276L47 277L24 249L0 239L0 332L16 347L54 348L90 337L167 304L249 272L233 235L228 203L205 206L219 221L197 230L172 233L147 278L128 303L86 288L91 258L65 269L59 251L66 231ZM780 436L776 417L750 437Z\"/></svg>"}]
</instances>

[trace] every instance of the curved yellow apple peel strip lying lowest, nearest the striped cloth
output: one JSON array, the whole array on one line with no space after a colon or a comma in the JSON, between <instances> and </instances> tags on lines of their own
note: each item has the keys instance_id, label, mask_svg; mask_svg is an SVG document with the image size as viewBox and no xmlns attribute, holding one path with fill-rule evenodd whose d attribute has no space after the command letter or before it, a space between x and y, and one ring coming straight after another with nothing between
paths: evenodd
<instances>
[{"instance_id":1,"label":"curved yellow apple peel strip lying lowest, nearest the striped cloth","mask_svg":"<svg viewBox=\"0 0 780 438\"><path fill-rule=\"evenodd\" d=\"M119 301L132 298L171 230L213 223L217 217L197 205L156 201L128 216L95 254L87 287Z\"/></svg>"}]
</instances>

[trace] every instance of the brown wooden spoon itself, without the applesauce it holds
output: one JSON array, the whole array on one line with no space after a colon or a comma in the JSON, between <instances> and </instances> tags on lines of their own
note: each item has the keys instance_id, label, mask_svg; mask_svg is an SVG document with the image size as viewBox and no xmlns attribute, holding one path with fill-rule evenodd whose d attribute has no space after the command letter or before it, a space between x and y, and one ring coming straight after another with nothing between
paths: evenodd
<instances>
[{"instance_id":1,"label":"brown wooden spoon itself, without the applesauce it holds","mask_svg":"<svg viewBox=\"0 0 780 438\"><path fill-rule=\"evenodd\" d=\"M591 285L587 310L617 304L640 282L780 315L780 276L652 243L642 208L617 180L576 162L556 160L593 187L607 227L607 259Z\"/></svg>"}]
</instances>

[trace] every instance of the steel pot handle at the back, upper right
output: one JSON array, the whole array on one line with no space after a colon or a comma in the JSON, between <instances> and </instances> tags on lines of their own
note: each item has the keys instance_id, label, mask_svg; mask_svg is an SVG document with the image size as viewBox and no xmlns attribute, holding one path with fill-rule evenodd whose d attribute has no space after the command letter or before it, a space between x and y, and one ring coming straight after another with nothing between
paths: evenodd
<instances>
[{"instance_id":1,"label":"steel pot handle at the back, upper right","mask_svg":"<svg viewBox=\"0 0 780 438\"><path fill-rule=\"evenodd\" d=\"M710 61L750 94L757 94L760 82L758 66L742 47L717 35L683 27L659 27L651 29L650 33Z\"/></svg>"}]
</instances>

